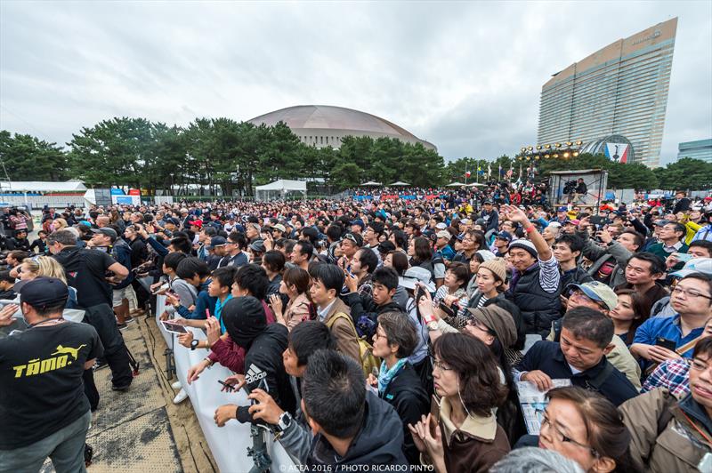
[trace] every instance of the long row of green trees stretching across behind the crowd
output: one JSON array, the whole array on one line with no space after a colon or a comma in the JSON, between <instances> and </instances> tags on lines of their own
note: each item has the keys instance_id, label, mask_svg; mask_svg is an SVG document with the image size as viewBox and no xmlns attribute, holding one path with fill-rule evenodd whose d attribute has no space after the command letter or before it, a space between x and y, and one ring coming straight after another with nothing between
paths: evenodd
<instances>
[{"instance_id":1,"label":"long row of green trees stretching across behind the crowd","mask_svg":"<svg viewBox=\"0 0 712 473\"><path fill-rule=\"evenodd\" d=\"M339 149L315 148L284 123L256 126L230 118L196 118L180 127L115 117L82 128L67 145L64 151L30 135L0 132L0 158L12 180L75 177L88 186L130 186L150 194L183 195L199 185L208 195L252 196L256 185L278 179L323 180L333 191L366 180L429 188L464 181L465 169L471 172L467 182L504 178L510 169L516 180L519 168L531 164L506 155L445 164L432 149L391 138L347 136ZM534 164L542 178L552 171L602 168L610 188L712 188L712 164L690 158L654 171L589 154Z\"/></svg>"}]
</instances>

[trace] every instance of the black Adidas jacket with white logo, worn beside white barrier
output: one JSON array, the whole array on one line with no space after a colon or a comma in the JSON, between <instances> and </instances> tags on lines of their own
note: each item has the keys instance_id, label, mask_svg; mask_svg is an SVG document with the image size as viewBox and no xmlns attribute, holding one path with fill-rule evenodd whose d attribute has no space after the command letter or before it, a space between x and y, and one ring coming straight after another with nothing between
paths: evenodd
<instances>
[{"instance_id":1,"label":"black Adidas jacket with white logo, worn beside white barrier","mask_svg":"<svg viewBox=\"0 0 712 473\"><path fill-rule=\"evenodd\" d=\"M283 410L295 413L295 393L284 370L282 353L287 349L287 327L271 324L255 337L245 355L245 381L247 390L263 389ZM238 419L251 419L248 405L238 408Z\"/></svg>"}]
</instances>

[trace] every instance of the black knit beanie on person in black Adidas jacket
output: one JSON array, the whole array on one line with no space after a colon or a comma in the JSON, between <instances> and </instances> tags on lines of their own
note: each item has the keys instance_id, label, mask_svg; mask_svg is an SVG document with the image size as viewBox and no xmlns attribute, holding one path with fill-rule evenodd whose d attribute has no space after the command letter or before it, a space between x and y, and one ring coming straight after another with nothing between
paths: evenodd
<instances>
[{"instance_id":1,"label":"black knit beanie on person in black Adidas jacket","mask_svg":"<svg viewBox=\"0 0 712 473\"><path fill-rule=\"evenodd\" d=\"M267 327L262 302L252 296L236 297L223 306L223 322L232 341L248 349Z\"/></svg>"}]
</instances>

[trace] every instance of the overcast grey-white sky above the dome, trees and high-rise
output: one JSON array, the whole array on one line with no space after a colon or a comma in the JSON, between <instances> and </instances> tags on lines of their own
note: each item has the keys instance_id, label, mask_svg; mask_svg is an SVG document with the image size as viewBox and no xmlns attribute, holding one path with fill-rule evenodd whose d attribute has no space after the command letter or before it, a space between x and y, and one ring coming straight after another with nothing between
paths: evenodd
<instances>
[{"instance_id":1,"label":"overcast grey-white sky above the dome, trees and high-rise","mask_svg":"<svg viewBox=\"0 0 712 473\"><path fill-rule=\"evenodd\" d=\"M300 104L382 116L448 159L536 144L541 85L679 17L662 161L712 138L712 2L0 2L0 129L188 124Z\"/></svg>"}]
</instances>

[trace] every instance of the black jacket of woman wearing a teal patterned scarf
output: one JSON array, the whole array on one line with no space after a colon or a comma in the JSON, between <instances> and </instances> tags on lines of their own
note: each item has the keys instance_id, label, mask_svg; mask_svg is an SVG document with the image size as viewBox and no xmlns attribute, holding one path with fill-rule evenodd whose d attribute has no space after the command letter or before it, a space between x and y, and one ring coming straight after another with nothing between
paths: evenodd
<instances>
[{"instance_id":1,"label":"black jacket of woman wearing a teal patterned scarf","mask_svg":"<svg viewBox=\"0 0 712 473\"><path fill-rule=\"evenodd\" d=\"M411 465L419 465L420 452L410 435L408 424L416 425L422 415L430 411L428 393L420 382L420 376L413 365L406 363L401 371L391 380L379 397L393 406L403 422L403 453Z\"/></svg>"}]
</instances>

